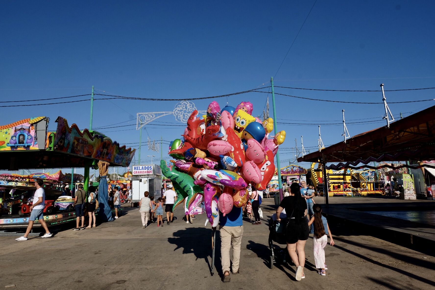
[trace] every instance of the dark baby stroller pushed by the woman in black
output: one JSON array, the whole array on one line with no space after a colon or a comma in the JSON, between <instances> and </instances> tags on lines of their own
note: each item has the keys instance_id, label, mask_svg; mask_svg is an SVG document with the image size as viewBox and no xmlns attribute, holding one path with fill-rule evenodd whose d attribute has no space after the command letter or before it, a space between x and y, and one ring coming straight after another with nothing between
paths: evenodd
<instances>
[{"instance_id":1,"label":"dark baby stroller pushed by the woman in black","mask_svg":"<svg viewBox=\"0 0 435 290\"><path fill-rule=\"evenodd\" d=\"M269 248L271 249L271 256L269 258L269 268L273 268L273 264L281 264L286 263L288 260L287 249L280 248L278 252L274 251L273 242L279 243L280 245L287 245L285 240L285 220L287 215L285 213L281 213L280 215L281 223L277 223L276 221L276 213L274 213L269 220Z\"/></svg>"}]
</instances>

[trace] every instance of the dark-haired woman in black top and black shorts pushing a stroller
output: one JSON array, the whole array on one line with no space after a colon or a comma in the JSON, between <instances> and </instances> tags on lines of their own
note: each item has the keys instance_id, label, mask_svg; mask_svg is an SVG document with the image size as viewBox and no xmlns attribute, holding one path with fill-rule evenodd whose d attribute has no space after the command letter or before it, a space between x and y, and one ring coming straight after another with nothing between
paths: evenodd
<instances>
[{"instance_id":1,"label":"dark-haired woman in black top and black shorts pushing a stroller","mask_svg":"<svg viewBox=\"0 0 435 290\"><path fill-rule=\"evenodd\" d=\"M290 186L290 196L284 197L276 210L276 220L281 222L280 214L285 209L288 223L286 227L286 242L288 254L296 266L296 280L305 278L305 243L308 240L309 228L307 216L307 203L302 197L298 183ZM298 250L298 253L296 253Z\"/></svg>"}]
</instances>

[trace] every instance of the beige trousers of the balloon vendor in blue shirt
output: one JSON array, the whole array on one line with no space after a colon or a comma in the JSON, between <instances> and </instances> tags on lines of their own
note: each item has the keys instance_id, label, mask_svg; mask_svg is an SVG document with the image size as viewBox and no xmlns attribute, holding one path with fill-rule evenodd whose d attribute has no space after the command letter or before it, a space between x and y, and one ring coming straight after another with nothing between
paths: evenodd
<instances>
[{"instance_id":1,"label":"beige trousers of the balloon vendor in blue shirt","mask_svg":"<svg viewBox=\"0 0 435 290\"><path fill-rule=\"evenodd\" d=\"M219 227L221 235L221 263L222 273L230 270L230 248L233 246L232 272L237 272L240 261L240 246L242 243L243 226Z\"/></svg>"}]
</instances>

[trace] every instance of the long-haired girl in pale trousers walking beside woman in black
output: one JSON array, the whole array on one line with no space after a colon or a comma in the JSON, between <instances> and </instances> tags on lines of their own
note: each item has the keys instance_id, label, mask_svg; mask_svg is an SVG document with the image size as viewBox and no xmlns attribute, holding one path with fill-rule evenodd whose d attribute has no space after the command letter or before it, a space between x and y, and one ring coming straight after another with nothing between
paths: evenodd
<instances>
[{"instance_id":1,"label":"long-haired girl in pale trousers walking beside woman in black","mask_svg":"<svg viewBox=\"0 0 435 290\"><path fill-rule=\"evenodd\" d=\"M314 251L314 261L318 272L322 276L326 276L325 262L325 247L328 243L328 236L331 246L334 246L334 240L332 239L331 230L329 229L328 221L326 217L322 216L322 207L320 204L315 204L313 207L314 215L308 222L308 226L311 226L311 232L314 233L313 236L313 251Z\"/></svg>"}]
</instances>

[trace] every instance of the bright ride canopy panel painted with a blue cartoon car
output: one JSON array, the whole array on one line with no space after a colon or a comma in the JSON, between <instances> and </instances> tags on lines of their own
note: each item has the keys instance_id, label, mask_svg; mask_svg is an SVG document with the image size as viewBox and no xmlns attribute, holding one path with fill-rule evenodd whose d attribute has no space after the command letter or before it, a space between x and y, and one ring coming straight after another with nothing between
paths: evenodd
<instances>
[{"instance_id":1,"label":"bright ride canopy panel painted with a blue cartoon car","mask_svg":"<svg viewBox=\"0 0 435 290\"><path fill-rule=\"evenodd\" d=\"M47 117L28 118L0 126L0 151L39 150L36 136L37 123L47 119ZM40 141L45 149L45 140Z\"/></svg>"}]
</instances>

